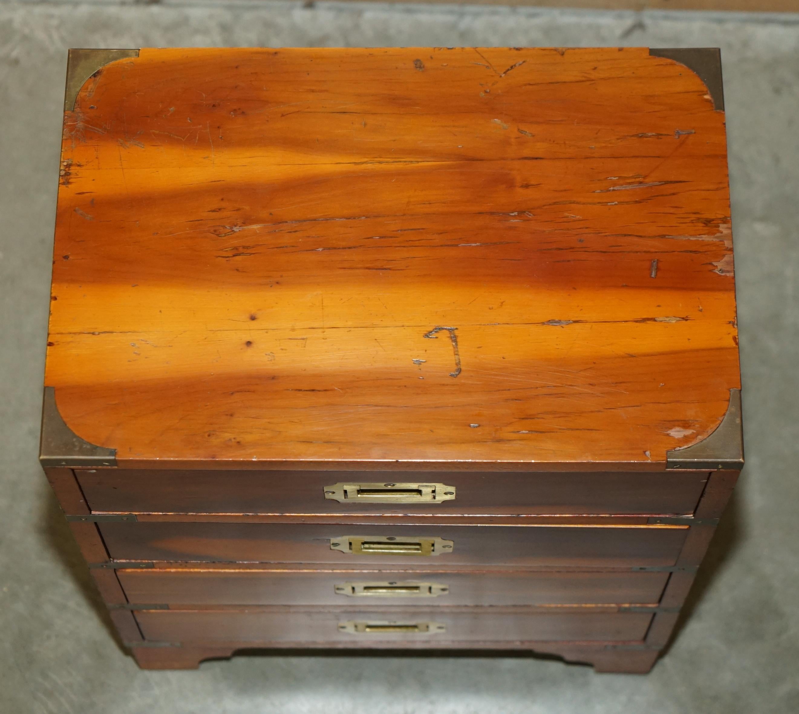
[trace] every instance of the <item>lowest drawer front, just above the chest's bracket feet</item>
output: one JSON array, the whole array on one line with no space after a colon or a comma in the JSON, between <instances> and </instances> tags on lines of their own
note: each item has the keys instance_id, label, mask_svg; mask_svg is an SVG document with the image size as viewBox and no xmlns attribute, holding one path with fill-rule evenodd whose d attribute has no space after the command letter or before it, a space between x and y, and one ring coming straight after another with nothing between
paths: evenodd
<instances>
[{"instance_id":1,"label":"lowest drawer front, just above the chest's bracket feet","mask_svg":"<svg viewBox=\"0 0 799 714\"><path fill-rule=\"evenodd\" d=\"M482 608L481 608L482 609ZM336 608L333 610L140 610L146 640L192 642L369 642L565 640L638 642L649 612L451 612Z\"/></svg>"}]
</instances>

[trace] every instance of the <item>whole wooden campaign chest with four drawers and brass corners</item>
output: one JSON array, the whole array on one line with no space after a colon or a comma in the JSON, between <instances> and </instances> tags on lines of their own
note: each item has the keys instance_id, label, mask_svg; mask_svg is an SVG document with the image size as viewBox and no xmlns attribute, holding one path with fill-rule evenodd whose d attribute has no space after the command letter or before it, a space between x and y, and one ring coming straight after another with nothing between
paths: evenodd
<instances>
[{"instance_id":1,"label":"whole wooden campaign chest with four drawers and brass corners","mask_svg":"<svg viewBox=\"0 0 799 714\"><path fill-rule=\"evenodd\" d=\"M53 265L142 667L654 664L743 461L718 50L71 50Z\"/></svg>"}]
</instances>

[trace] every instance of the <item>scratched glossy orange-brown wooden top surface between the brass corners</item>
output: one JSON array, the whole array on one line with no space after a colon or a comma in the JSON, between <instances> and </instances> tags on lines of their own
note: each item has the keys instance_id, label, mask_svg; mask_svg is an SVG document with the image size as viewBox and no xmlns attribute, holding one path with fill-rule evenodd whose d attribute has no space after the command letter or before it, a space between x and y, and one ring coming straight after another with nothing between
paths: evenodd
<instances>
[{"instance_id":1,"label":"scratched glossy orange-brown wooden top surface between the brass corners","mask_svg":"<svg viewBox=\"0 0 799 714\"><path fill-rule=\"evenodd\" d=\"M64 114L46 385L119 463L662 468L740 386L724 114L646 49L141 50Z\"/></svg>"}]
</instances>

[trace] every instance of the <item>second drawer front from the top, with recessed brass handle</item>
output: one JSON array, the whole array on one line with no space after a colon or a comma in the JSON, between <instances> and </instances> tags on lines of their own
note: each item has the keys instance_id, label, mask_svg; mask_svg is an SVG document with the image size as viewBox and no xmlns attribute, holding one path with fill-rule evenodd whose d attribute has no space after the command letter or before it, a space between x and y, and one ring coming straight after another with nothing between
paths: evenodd
<instances>
[{"instance_id":1,"label":"second drawer front from the top, with recessed brass handle","mask_svg":"<svg viewBox=\"0 0 799 714\"><path fill-rule=\"evenodd\" d=\"M114 560L250 561L413 569L463 565L674 565L688 528L673 525L332 525L99 523ZM352 540L362 552L344 552ZM396 554L406 548L407 553ZM435 548L431 545L435 542ZM375 548L366 552L365 546ZM384 547L386 546L386 547ZM416 546L419 546L416 548Z\"/></svg>"}]
</instances>

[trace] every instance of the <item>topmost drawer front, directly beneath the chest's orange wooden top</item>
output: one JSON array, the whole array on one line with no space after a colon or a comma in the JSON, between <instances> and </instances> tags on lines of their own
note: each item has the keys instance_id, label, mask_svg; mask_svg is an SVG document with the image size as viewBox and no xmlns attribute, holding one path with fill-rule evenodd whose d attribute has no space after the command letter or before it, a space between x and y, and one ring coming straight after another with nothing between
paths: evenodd
<instances>
[{"instance_id":1,"label":"topmost drawer front, directly beneath the chest's orange wooden top","mask_svg":"<svg viewBox=\"0 0 799 714\"><path fill-rule=\"evenodd\" d=\"M708 477L704 472L679 471L386 473L96 469L76 473L89 507L96 512L467 516L690 514L694 513ZM392 483L403 487L386 485ZM420 488L424 486L434 488Z\"/></svg>"}]
</instances>

